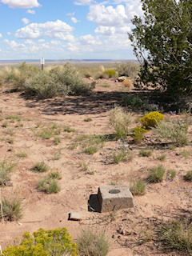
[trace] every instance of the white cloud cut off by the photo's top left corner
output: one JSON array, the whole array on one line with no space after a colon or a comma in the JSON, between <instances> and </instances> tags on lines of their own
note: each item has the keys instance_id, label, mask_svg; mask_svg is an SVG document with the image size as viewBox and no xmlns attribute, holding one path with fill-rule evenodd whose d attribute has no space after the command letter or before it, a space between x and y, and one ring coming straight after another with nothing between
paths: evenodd
<instances>
[{"instance_id":1,"label":"white cloud cut off by the photo's top left corner","mask_svg":"<svg viewBox=\"0 0 192 256\"><path fill-rule=\"evenodd\" d=\"M34 8L41 6L38 0L1 0L1 2L10 8Z\"/></svg>"}]
</instances>

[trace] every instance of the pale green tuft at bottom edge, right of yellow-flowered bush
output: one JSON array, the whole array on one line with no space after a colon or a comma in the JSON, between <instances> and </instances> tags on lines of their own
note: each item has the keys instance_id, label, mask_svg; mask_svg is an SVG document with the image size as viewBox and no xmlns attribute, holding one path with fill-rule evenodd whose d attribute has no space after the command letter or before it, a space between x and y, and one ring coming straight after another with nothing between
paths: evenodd
<instances>
[{"instance_id":1,"label":"pale green tuft at bottom edge, right of yellow-flowered bush","mask_svg":"<svg viewBox=\"0 0 192 256\"><path fill-rule=\"evenodd\" d=\"M106 256L110 249L110 242L103 231L82 231L77 243L79 254L85 256Z\"/></svg>"}]
</instances>

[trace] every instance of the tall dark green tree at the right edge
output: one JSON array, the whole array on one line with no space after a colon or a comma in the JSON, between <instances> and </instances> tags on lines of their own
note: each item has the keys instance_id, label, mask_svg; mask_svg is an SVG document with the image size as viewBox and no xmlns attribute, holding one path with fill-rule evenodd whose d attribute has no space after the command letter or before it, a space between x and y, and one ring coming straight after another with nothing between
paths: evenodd
<instances>
[{"instance_id":1,"label":"tall dark green tree at the right edge","mask_svg":"<svg viewBox=\"0 0 192 256\"><path fill-rule=\"evenodd\" d=\"M142 0L142 10L144 17L132 20L129 38L144 86L152 83L174 96L191 94L191 2Z\"/></svg>"}]
</instances>

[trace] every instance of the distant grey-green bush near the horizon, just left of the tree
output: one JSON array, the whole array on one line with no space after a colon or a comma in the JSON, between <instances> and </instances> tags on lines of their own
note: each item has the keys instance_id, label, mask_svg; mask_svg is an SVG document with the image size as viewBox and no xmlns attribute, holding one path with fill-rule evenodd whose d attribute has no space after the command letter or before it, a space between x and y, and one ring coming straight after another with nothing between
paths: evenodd
<instances>
[{"instance_id":1,"label":"distant grey-green bush near the horizon, just left of the tree","mask_svg":"<svg viewBox=\"0 0 192 256\"><path fill-rule=\"evenodd\" d=\"M115 64L115 70L120 76L134 78L138 74L139 65L135 62L118 62Z\"/></svg>"}]
</instances>

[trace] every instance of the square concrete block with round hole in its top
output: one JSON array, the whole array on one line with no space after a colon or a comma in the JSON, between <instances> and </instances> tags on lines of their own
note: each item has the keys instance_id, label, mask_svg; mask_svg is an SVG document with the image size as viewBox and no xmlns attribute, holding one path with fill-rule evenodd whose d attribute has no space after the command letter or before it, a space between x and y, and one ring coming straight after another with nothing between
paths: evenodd
<instances>
[{"instance_id":1,"label":"square concrete block with round hole in its top","mask_svg":"<svg viewBox=\"0 0 192 256\"><path fill-rule=\"evenodd\" d=\"M101 213L134 207L133 195L128 186L99 186L98 202Z\"/></svg>"}]
</instances>

